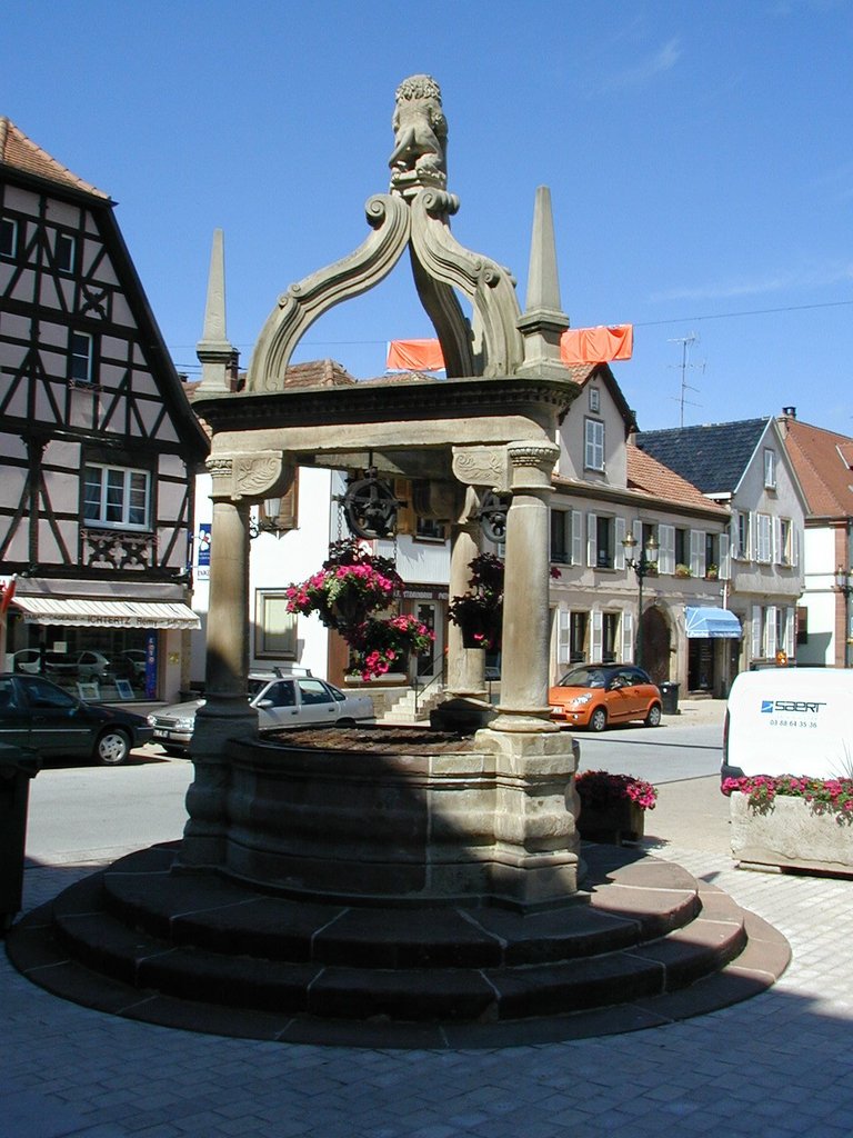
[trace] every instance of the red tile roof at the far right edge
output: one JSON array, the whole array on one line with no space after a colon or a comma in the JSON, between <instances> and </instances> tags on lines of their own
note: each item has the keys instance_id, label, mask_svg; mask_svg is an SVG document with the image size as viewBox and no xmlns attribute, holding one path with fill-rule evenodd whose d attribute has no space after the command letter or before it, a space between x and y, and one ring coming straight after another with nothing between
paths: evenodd
<instances>
[{"instance_id":1,"label":"red tile roof at the far right edge","mask_svg":"<svg viewBox=\"0 0 853 1138\"><path fill-rule=\"evenodd\" d=\"M853 439L788 417L779 420L779 428L809 513L820 518L852 518Z\"/></svg>"}]
</instances>

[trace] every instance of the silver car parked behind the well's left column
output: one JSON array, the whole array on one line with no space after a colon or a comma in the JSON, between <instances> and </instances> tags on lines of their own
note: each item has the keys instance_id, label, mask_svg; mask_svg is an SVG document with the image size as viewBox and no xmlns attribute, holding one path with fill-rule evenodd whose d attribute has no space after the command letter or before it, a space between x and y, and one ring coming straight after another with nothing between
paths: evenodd
<instances>
[{"instance_id":1,"label":"silver car parked behind the well's left column","mask_svg":"<svg viewBox=\"0 0 853 1138\"><path fill-rule=\"evenodd\" d=\"M196 712L204 699L176 703L149 715L154 740L167 754L183 754L196 727ZM270 676L252 673L249 677L249 703L258 710L258 731L337 724L374 723L373 700L368 695L346 695L338 687L314 676Z\"/></svg>"}]
</instances>

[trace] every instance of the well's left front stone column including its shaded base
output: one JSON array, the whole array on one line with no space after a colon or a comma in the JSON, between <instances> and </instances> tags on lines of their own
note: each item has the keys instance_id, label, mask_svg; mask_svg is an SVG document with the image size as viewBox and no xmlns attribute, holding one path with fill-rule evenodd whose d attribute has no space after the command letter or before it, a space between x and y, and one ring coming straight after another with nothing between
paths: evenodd
<instances>
[{"instance_id":1,"label":"well's left front stone column including its shaded base","mask_svg":"<svg viewBox=\"0 0 853 1138\"><path fill-rule=\"evenodd\" d=\"M207 613L205 704L196 716L190 745L194 781L187 792L190 815L181 846L183 866L216 866L225 860L229 791L227 743L257 734L257 711L249 707L249 508L234 493L233 461L212 459L213 523L210 593Z\"/></svg>"}]
</instances>

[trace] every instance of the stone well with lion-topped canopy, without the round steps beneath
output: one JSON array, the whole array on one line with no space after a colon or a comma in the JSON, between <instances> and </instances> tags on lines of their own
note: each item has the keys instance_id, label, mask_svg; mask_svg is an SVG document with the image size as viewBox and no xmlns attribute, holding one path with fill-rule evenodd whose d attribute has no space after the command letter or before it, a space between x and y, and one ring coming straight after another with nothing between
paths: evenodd
<instances>
[{"instance_id":1,"label":"stone well with lion-topped canopy, without the round steps beneath","mask_svg":"<svg viewBox=\"0 0 853 1138\"><path fill-rule=\"evenodd\" d=\"M578 887L579 840L575 754L547 703L548 502L558 420L577 395L560 360L569 320L550 199L544 188L536 197L522 313L507 270L450 232L459 203L446 188L447 123L430 76L400 84L394 125L390 190L367 201L366 240L279 297L245 390L226 384L224 336L218 364L215 338L206 337L209 365L194 407L213 431L207 703L192 744L180 865L290 894L554 904ZM405 253L447 379L290 385L289 360L312 323L383 280ZM474 327L457 292L471 302ZM320 793L316 766L297 776L280 749L273 757L257 743L246 701L249 514L281 493L299 464L375 468L379 477L428 485L428 509L450 527L452 593L464 592L479 552L483 497L508 498L502 702L473 752L414 765L365 756L354 776L338 769L324 777ZM482 693L482 660L453 627L452 694ZM389 795L391 809L383 806Z\"/></svg>"}]
</instances>

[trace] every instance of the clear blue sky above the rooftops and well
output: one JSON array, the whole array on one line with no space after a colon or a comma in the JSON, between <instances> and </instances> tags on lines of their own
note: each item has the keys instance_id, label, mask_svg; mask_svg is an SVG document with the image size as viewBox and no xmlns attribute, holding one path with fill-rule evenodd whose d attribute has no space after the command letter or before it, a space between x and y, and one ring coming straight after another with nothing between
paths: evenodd
<instances>
[{"instance_id":1,"label":"clear blue sky above the rooftops and well","mask_svg":"<svg viewBox=\"0 0 853 1138\"><path fill-rule=\"evenodd\" d=\"M366 236L395 88L428 72L457 240L523 306L550 187L563 307L635 324L641 429L795 405L853 435L853 0L6 0L1 50L0 114L118 201L181 370L213 230L247 365L278 295ZM431 335L398 270L295 358L378 376Z\"/></svg>"}]
</instances>

